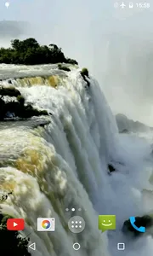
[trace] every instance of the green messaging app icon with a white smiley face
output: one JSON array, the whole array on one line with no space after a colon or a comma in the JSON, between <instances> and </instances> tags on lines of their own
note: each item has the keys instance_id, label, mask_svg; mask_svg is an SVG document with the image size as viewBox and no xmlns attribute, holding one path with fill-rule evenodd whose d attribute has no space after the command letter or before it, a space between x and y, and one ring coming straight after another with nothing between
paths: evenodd
<instances>
[{"instance_id":1,"label":"green messaging app icon with a white smiley face","mask_svg":"<svg viewBox=\"0 0 153 256\"><path fill-rule=\"evenodd\" d=\"M99 230L116 230L116 215L99 215Z\"/></svg>"}]
</instances>

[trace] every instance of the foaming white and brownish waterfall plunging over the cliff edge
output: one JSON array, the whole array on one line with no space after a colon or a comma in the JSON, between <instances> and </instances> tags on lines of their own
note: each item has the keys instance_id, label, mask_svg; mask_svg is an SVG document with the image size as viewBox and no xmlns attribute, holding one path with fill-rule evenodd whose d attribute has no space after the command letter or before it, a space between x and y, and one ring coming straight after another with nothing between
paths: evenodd
<instances>
[{"instance_id":1,"label":"foaming white and brownish waterfall plunging over the cliff edge","mask_svg":"<svg viewBox=\"0 0 153 256\"><path fill-rule=\"evenodd\" d=\"M96 104L94 87L99 92L98 84L91 79L91 90L86 90L78 71L60 79L58 89L41 78L11 81L26 97L26 102L52 115L47 118L49 125L45 127L33 130L23 124L0 131L3 151L0 188L14 191L2 204L3 212L26 219L25 233L31 233L32 242L37 241L36 255L76 255L72 248L76 241L82 245L77 252L79 256L108 256L107 238L98 230L98 213L93 204L99 187L105 183L100 180L100 148L105 156L109 154L106 137L113 140L111 125L114 124L105 116L103 121L96 121L98 108L103 105L101 114L111 113L105 99ZM107 131L105 125L109 127ZM107 174L106 159L104 172ZM71 207L76 209L76 215L78 209L82 209L86 223L86 229L77 237L67 228L71 211L65 212L65 208ZM38 217L56 219L54 234L37 232Z\"/></svg>"}]
</instances>

